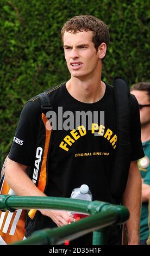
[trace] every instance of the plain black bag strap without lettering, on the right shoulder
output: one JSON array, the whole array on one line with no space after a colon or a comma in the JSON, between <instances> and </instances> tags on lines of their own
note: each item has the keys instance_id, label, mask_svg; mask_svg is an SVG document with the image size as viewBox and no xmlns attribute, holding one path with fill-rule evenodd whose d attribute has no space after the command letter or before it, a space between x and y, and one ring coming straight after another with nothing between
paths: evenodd
<instances>
[{"instance_id":1,"label":"plain black bag strap without lettering, on the right shoulder","mask_svg":"<svg viewBox=\"0 0 150 256\"><path fill-rule=\"evenodd\" d=\"M113 80L117 112L117 149L110 189L113 196L120 197L127 184L131 156L131 117L128 84L121 77Z\"/></svg>"}]
</instances>

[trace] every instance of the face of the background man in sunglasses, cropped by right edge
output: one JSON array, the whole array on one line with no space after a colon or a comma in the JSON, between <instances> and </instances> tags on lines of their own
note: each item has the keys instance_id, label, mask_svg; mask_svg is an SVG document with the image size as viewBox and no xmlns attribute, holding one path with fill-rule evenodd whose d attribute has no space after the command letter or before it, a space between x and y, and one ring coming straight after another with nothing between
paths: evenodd
<instances>
[{"instance_id":1,"label":"face of the background man in sunglasses, cropped by right edge","mask_svg":"<svg viewBox=\"0 0 150 256\"><path fill-rule=\"evenodd\" d=\"M140 105L148 105L149 97L147 92L141 90L133 90L131 92L137 99ZM140 109L141 126L150 124L150 107L142 107Z\"/></svg>"}]
</instances>

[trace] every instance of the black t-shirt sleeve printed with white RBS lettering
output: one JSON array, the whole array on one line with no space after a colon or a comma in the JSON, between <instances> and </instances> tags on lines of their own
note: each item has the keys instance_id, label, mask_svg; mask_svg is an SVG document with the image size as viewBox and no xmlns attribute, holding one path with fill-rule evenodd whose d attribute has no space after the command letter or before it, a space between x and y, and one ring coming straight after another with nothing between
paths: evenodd
<instances>
[{"instance_id":1,"label":"black t-shirt sleeve printed with white RBS lettering","mask_svg":"<svg viewBox=\"0 0 150 256\"><path fill-rule=\"evenodd\" d=\"M28 101L23 107L9 152L9 159L26 166L32 165L35 154L40 117L40 100L37 101Z\"/></svg>"}]
</instances>

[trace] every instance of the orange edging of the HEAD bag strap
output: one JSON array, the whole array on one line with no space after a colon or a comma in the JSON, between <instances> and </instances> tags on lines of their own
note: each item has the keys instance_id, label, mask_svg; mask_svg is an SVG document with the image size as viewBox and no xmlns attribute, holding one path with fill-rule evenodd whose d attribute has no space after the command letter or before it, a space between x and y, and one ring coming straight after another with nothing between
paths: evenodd
<instances>
[{"instance_id":1,"label":"orange edging of the HEAD bag strap","mask_svg":"<svg viewBox=\"0 0 150 256\"><path fill-rule=\"evenodd\" d=\"M49 149L49 141L51 138L52 126L49 124L49 122L47 122L48 119L43 113L42 113L42 120L45 125L46 137L45 137L45 147L44 147L43 160L41 165L41 172L40 172L40 177L39 177L39 182L37 187L39 188L40 191L44 192L45 186L46 186L46 178L47 178L47 173L46 173L47 154ZM37 210L35 209L31 209L28 212L28 216L33 219L36 214L36 211Z\"/></svg>"}]
</instances>

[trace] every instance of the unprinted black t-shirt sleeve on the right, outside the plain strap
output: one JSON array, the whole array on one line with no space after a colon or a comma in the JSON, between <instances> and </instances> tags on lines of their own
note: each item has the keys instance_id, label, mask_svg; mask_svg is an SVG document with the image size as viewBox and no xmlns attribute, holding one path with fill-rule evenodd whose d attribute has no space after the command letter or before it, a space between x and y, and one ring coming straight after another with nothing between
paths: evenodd
<instances>
[{"instance_id":1,"label":"unprinted black t-shirt sleeve on the right, outside the plain strap","mask_svg":"<svg viewBox=\"0 0 150 256\"><path fill-rule=\"evenodd\" d=\"M141 142L141 122L139 113L139 103L134 95L130 95L131 107L131 124L132 124L132 158L131 161L141 159L144 156L142 142Z\"/></svg>"}]
</instances>

